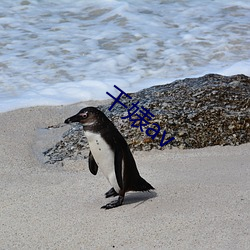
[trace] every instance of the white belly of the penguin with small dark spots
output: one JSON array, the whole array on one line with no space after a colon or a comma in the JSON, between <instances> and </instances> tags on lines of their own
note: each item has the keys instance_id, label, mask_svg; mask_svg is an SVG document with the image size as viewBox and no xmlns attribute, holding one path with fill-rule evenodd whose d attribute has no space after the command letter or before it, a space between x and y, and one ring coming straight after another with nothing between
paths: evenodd
<instances>
[{"instance_id":1,"label":"white belly of the penguin with small dark spots","mask_svg":"<svg viewBox=\"0 0 250 250\"><path fill-rule=\"evenodd\" d=\"M120 191L115 174L115 154L100 134L85 132L96 164L117 193Z\"/></svg>"}]
</instances>

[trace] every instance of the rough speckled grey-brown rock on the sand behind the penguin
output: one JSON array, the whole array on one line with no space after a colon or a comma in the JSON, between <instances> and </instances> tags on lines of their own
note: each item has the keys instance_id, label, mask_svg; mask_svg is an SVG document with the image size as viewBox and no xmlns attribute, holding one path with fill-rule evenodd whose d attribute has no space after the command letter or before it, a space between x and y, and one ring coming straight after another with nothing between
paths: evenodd
<instances>
[{"instance_id":1,"label":"rough speckled grey-brown rock on the sand behind the penguin","mask_svg":"<svg viewBox=\"0 0 250 250\"><path fill-rule=\"evenodd\" d=\"M127 114L121 105L116 104L111 112L107 105L98 108L114 122L132 150L187 149L250 142L250 78L245 75L209 74L153 86L130 95L132 100L122 97L121 101L128 108L139 101L138 106L154 114L150 124L160 125L161 132L154 140L146 139L147 127L141 132L140 128L132 128L128 119L121 119ZM176 140L160 147L164 130ZM84 158L86 153L83 151L87 148L81 126L74 125L63 135L62 141L46 150L44 155L48 162L54 163L65 158Z\"/></svg>"}]
</instances>

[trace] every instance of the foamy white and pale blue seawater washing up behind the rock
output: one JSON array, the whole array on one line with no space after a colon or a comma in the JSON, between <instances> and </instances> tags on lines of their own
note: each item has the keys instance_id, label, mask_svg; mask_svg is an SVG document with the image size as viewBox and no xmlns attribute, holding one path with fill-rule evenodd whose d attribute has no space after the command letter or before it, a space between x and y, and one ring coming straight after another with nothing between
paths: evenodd
<instances>
[{"instance_id":1,"label":"foamy white and pale blue seawater washing up behind the rock","mask_svg":"<svg viewBox=\"0 0 250 250\"><path fill-rule=\"evenodd\" d=\"M245 0L1 0L0 38L0 112L250 76Z\"/></svg>"}]
</instances>

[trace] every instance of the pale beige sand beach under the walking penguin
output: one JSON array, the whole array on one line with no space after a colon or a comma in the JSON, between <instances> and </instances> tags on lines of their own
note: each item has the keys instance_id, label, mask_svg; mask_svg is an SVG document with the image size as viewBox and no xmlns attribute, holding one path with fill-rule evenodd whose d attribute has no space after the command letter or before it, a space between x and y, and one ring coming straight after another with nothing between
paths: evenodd
<instances>
[{"instance_id":1,"label":"pale beige sand beach under the walking penguin","mask_svg":"<svg viewBox=\"0 0 250 250\"><path fill-rule=\"evenodd\" d=\"M0 114L0 249L250 248L250 144L135 152L155 192L103 210L110 187L87 160L41 162L67 130L43 128L89 104Z\"/></svg>"}]
</instances>

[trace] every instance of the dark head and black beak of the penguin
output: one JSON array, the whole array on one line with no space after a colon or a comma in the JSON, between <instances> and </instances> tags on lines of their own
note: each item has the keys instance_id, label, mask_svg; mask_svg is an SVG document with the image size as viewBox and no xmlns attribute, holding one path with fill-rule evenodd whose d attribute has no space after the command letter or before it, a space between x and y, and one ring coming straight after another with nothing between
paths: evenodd
<instances>
[{"instance_id":1,"label":"dark head and black beak of the penguin","mask_svg":"<svg viewBox=\"0 0 250 250\"><path fill-rule=\"evenodd\" d=\"M81 123L85 129L87 127L101 126L108 119L100 110L94 107L81 109L76 115L67 118L64 122L67 124L73 122Z\"/></svg>"}]
</instances>

